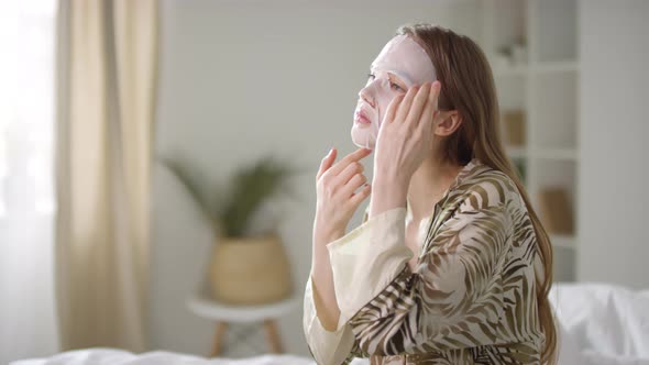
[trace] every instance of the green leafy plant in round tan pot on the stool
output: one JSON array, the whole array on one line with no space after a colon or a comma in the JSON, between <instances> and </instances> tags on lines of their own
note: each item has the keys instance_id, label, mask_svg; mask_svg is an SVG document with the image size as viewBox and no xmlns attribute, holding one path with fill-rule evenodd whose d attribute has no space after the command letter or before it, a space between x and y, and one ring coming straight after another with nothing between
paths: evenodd
<instances>
[{"instance_id":1,"label":"green leafy plant in round tan pot on the stool","mask_svg":"<svg viewBox=\"0 0 649 365\"><path fill-rule=\"evenodd\" d=\"M255 214L264 203L292 192L288 179L296 173L273 157L243 167L228 189L208 188L207 179L179 159L164 164L182 181L209 220L215 244L209 279L215 299L231 305L260 305L290 296L290 268L277 222L265 232L254 230Z\"/></svg>"}]
</instances>

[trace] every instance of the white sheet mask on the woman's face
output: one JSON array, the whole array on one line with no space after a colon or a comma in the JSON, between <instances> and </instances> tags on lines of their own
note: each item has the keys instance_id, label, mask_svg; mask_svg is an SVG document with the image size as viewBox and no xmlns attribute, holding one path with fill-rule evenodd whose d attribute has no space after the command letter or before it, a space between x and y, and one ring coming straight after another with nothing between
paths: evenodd
<instances>
[{"instance_id":1,"label":"white sheet mask on the woman's face","mask_svg":"<svg viewBox=\"0 0 649 365\"><path fill-rule=\"evenodd\" d=\"M406 88L435 81L437 77L426 51L407 35L397 35L383 47L372 63L371 73L374 78L369 78L367 85L359 92L352 141L359 147L374 150L389 102L406 91L400 90L397 82L392 82L388 74L400 79ZM360 114L364 114L369 123L360 121Z\"/></svg>"}]
</instances>

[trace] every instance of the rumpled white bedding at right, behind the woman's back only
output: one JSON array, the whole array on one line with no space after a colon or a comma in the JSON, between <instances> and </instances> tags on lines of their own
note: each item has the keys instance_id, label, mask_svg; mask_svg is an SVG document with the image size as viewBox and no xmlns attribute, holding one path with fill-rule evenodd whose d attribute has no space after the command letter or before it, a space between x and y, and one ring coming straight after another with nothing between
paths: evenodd
<instances>
[{"instance_id":1,"label":"rumpled white bedding at right, behind the woman's back only","mask_svg":"<svg viewBox=\"0 0 649 365\"><path fill-rule=\"evenodd\" d=\"M562 332L561 356L584 365L649 365L649 290L559 284L550 300Z\"/></svg>"}]
</instances>

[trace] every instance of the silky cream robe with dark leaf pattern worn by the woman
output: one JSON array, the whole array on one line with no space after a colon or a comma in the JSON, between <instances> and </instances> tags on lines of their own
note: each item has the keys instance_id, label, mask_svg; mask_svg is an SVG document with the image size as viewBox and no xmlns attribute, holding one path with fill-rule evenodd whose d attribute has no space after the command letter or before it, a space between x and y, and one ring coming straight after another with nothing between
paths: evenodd
<instances>
[{"instance_id":1,"label":"silky cream robe with dark leaf pattern worn by the woman","mask_svg":"<svg viewBox=\"0 0 649 365\"><path fill-rule=\"evenodd\" d=\"M305 334L322 365L539 364L542 279L525 202L505 174L471 161L435 206L418 264L405 245L405 208L327 245L341 318L324 330L309 276Z\"/></svg>"}]
</instances>

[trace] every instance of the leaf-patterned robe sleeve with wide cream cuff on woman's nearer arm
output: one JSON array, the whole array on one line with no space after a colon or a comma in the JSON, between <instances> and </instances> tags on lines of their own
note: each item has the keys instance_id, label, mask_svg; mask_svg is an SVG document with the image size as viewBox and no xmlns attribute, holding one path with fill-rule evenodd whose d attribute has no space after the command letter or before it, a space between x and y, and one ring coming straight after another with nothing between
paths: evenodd
<instances>
[{"instance_id":1,"label":"leaf-patterned robe sleeve with wide cream cuff on woman's nearer arm","mask_svg":"<svg viewBox=\"0 0 649 365\"><path fill-rule=\"evenodd\" d=\"M405 208L328 244L340 323L349 323L363 352L421 354L497 341L512 224L506 204L490 201L470 193L458 203L415 272Z\"/></svg>"}]
</instances>

